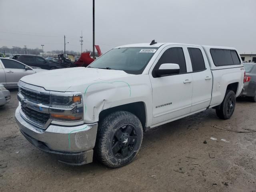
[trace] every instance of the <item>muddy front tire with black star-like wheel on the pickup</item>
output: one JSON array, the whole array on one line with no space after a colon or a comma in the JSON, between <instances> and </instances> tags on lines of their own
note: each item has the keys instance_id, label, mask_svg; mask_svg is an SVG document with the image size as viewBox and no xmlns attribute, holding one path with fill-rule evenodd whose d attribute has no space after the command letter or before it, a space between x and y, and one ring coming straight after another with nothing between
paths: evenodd
<instances>
[{"instance_id":1,"label":"muddy front tire with black star-like wheel on the pickup","mask_svg":"<svg viewBox=\"0 0 256 192\"><path fill-rule=\"evenodd\" d=\"M99 122L96 156L110 168L124 166L134 160L143 138L142 124L137 116L117 111Z\"/></svg>"}]
</instances>

